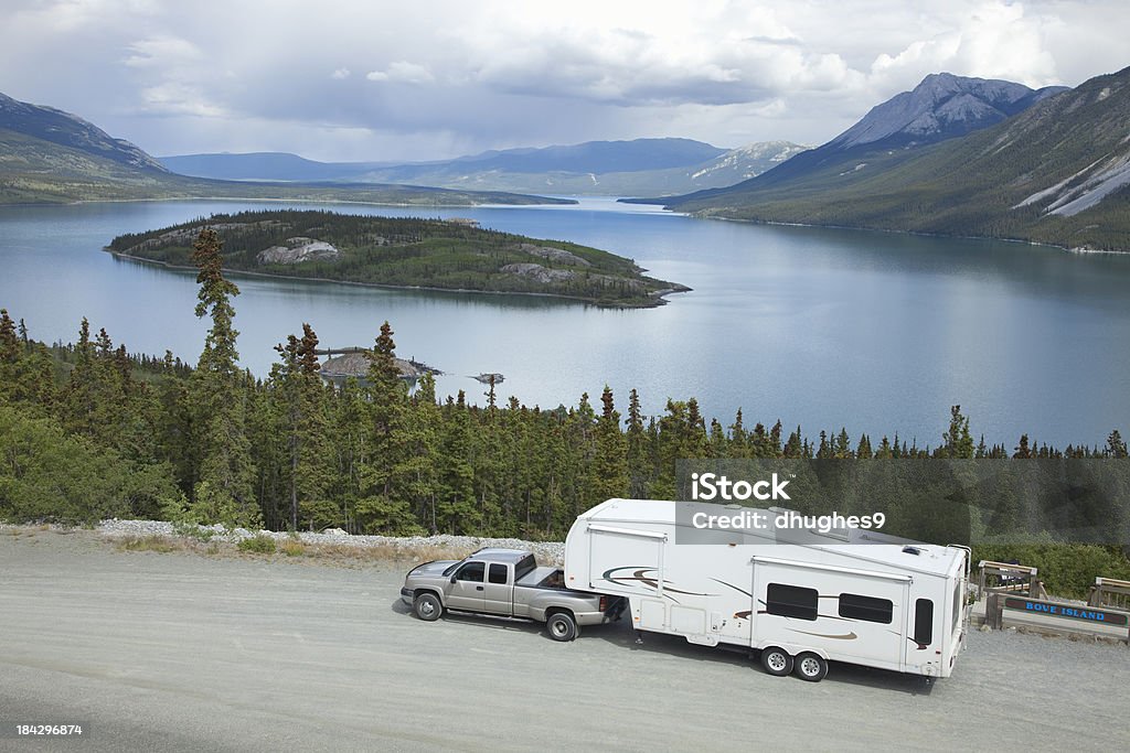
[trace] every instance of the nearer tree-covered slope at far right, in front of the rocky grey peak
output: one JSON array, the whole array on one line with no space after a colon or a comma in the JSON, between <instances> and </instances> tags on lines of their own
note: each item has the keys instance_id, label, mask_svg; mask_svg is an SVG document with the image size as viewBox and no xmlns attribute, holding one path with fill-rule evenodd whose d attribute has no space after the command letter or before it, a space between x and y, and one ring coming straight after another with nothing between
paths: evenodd
<instances>
[{"instance_id":1,"label":"nearer tree-covered slope at far right, in front of the rocky grey peak","mask_svg":"<svg viewBox=\"0 0 1130 753\"><path fill-rule=\"evenodd\" d=\"M1130 251L1128 133L1130 69L963 138L849 150L797 174L800 155L732 189L668 203L734 219Z\"/></svg>"}]
</instances>

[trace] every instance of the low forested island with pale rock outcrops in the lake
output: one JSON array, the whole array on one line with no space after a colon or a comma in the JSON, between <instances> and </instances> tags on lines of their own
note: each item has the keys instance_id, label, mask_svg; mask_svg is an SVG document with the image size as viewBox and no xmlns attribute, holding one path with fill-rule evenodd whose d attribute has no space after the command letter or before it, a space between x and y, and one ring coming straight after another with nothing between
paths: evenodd
<instances>
[{"instance_id":1,"label":"low forested island with pale rock outcrops in the lake","mask_svg":"<svg viewBox=\"0 0 1130 753\"><path fill-rule=\"evenodd\" d=\"M643 274L628 259L560 240L479 228L472 220L247 211L121 235L107 249L169 266L192 265L192 240L221 233L224 269L359 284L536 294L600 306L659 306L688 288Z\"/></svg>"}]
</instances>

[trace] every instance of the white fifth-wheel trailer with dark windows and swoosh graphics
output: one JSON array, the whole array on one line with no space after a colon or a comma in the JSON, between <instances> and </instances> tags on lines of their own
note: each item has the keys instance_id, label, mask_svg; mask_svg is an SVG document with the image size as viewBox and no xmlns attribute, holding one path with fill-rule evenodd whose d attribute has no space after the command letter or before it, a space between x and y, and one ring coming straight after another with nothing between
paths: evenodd
<instances>
[{"instance_id":1,"label":"white fifth-wheel trailer with dark windows and swoosh graphics","mask_svg":"<svg viewBox=\"0 0 1130 753\"><path fill-rule=\"evenodd\" d=\"M774 675L816 682L828 660L953 672L968 622L966 548L859 529L702 531L696 511L727 508L610 499L582 514L565 540L567 586L626 596L637 630L758 649Z\"/></svg>"}]
</instances>

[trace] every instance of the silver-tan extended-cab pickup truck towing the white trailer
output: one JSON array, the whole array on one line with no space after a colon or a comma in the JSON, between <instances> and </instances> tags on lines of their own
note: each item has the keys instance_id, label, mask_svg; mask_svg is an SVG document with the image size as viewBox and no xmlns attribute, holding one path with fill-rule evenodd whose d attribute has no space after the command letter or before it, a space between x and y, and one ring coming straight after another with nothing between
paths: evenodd
<instances>
[{"instance_id":1,"label":"silver-tan extended-cab pickup truck towing the white trailer","mask_svg":"<svg viewBox=\"0 0 1130 753\"><path fill-rule=\"evenodd\" d=\"M559 568L538 567L516 549L480 549L464 560L440 560L412 568L400 598L420 620L445 610L545 622L554 640L573 640L581 625L618 620L625 601L565 588Z\"/></svg>"}]
</instances>

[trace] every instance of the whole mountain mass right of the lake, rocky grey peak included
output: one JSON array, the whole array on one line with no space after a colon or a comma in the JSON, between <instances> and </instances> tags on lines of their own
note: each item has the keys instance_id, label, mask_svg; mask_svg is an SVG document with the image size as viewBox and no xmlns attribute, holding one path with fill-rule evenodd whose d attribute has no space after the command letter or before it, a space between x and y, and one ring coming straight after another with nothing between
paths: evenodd
<instances>
[{"instance_id":1,"label":"whole mountain mass right of the lake, rocky grey peak included","mask_svg":"<svg viewBox=\"0 0 1130 753\"><path fill-rule=\"evenodd\" d=\"M930 76L764 175L661 201L713 217L1130 251L1128 133L1130 68L1076 89Z\"/></svg>"}]
</instances>

